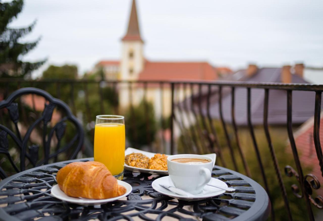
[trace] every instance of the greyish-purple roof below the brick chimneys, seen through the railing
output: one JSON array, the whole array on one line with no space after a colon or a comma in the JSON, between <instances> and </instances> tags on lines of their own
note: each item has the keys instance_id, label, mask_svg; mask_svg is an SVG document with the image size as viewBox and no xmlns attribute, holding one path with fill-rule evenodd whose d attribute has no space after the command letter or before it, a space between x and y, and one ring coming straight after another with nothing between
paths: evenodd
<instances>
[{"instance_id":1,"label":"greyish-purple roof below the brick chimneys, seen through the railing","mask_svg":"<svg viewBox=\"0 0 323 221\"><path fill-rule=\"evenodd\" d=\"M239 81L245 82L281 82L281 68L260 68L258 72L245 78L245 70L240 70ZM234 76L233 76L234 77ZM234 79L237 80L237 79ZM291 83L308 83L297 75L292 75ZM231 94L230 90L223 88L223 115L226 122L231 122ZM215 96L215 95L214 95ZM292 93L292 121L294 124L301 124L314 115L315 92L293 91ZM217 97L217 96L216 96ZM263 123L264 89L251 89L251 119L254 125ZM210 112L213 118L219 119L219 103L213 97ZM205 102L203 112L206 113ZM247 125L247 89L235 89L235 119L238 125ZM284 125L287 121L287 92L285 90L269 90L268 123Z\"/></svg>"}]
</instances>

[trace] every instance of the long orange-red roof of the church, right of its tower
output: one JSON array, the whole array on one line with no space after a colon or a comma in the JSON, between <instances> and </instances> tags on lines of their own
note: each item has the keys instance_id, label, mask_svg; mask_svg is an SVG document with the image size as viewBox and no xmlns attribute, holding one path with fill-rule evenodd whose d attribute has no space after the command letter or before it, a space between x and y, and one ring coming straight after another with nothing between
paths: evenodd
<instances>
[{"instance_id":1,"label":"long orange-red roof of the church, right of its tower","mask_svg":"<svg viewBox=\"0 0 323 221\"><path fill-rule=\"evenodd\" d=\"M139 80L216 80L216 70L208 62L145 63Z\"/></svg>"}]
</instances>

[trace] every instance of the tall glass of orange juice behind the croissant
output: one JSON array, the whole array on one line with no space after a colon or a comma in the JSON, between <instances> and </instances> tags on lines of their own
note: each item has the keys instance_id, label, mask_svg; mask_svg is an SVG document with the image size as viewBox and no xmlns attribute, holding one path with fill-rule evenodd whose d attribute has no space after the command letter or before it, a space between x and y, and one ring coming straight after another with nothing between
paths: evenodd
<instances>
[{"instance_id":1,"label":"tall glass of orange juice behind the croissant","mask_svg":"<svg viewBox=\"0 0 323 221\"><path fill-rule=\"evenodd\" d=\"M94 160L106 165L112 175L123 179L126 147L124 117L98 115L94 130Z\"/></svg>"}]
</instances>

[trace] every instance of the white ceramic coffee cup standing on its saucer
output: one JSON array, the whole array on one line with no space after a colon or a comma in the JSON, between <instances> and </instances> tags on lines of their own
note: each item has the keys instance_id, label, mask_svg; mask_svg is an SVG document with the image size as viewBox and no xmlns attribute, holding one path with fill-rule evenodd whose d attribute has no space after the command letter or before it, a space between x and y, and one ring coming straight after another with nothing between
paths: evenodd
<instances>
[{"instance_id":1,"label":"white ceramic coffee cup standing on its saucer","mask_svg":"<svg viewBox=\"0 0 323 221\"><path fill-rule=\"evenodd\" d=\"M179 163L174 159L203 159L209 162L200 164ZM191 194L199 194L209 183L213 168L213 159L197 154L177 154L167 157L168 174L175 187Z\"/></svg>"}]
</instances>

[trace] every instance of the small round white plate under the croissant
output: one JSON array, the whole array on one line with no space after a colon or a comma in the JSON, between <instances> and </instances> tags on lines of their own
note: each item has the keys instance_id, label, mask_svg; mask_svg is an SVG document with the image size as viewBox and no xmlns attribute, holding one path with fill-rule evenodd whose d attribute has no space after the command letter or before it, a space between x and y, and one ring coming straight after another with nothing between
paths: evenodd
<instances>
[{"instance_id":1,"label":"small round white plate under the croissant","mask_svg":"<svg viewBox=\"0 0 323 221\"><path fill-rule=\"evenodd\" d=\"M113 198L108 198L108 199L86 199L86 198L76 198L76 197L70 197L68 195L66 195L60 188L58 185L55 185L52 187L51 189L51 195L53 195L54 197L56 197L57 199L69 202L69 203L75 203L78 205L100 205L100 204L104 204L104 203L108 203L108 202L112 202L115 201L117 199L120 199L126 195L128 195L131 190L132 187L130 184L121 181L121 180L117 180L119 185L122 185L126 188L126 193L121 195L121 196L117 196L117 197L113 197Z\"/></svg>"}]
</instances>

